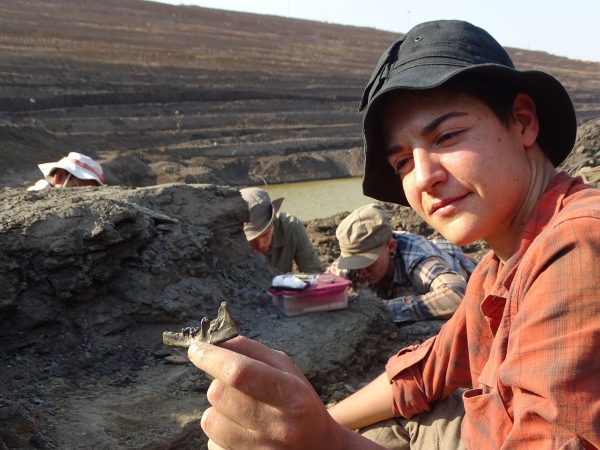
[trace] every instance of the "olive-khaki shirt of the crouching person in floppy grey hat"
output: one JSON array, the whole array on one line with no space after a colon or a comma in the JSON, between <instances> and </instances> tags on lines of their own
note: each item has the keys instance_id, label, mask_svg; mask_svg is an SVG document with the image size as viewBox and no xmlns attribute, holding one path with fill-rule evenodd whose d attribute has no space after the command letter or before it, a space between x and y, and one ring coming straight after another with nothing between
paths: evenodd
<instances>
[{"instance_id":1,"label":"olive-khaki shirt of the crouching person in floppy grey hat","mask_svg":"<svg viewBox=\"0 0 600 450\"><path fill-rule=\"evenodd\" d=\"M294 262L300 272L323 272L323 265L308 239L304 224L283 212L278 213L273 222L273 241L265 256L271 266L283 273L292 272Z\"/></svg>"}]
</instances>

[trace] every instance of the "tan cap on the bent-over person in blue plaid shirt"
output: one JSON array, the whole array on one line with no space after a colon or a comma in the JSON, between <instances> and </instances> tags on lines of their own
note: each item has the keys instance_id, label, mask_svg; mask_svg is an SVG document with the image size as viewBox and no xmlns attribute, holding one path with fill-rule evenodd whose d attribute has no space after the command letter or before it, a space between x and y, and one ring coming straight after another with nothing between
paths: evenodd
<instances>
[{"instance_id":1,"label":"tan cap on the bent-over person in blue plaid shirt","mask_svg":"<svg viewBox=\"0 0 600 450\"><path fill-rule=\"evenodd\" d=\"M352 211L338 225L340 269L363 269L379 258L392 237L392 226L381 205L369 203Z\"/></svg>"}]
</instances>

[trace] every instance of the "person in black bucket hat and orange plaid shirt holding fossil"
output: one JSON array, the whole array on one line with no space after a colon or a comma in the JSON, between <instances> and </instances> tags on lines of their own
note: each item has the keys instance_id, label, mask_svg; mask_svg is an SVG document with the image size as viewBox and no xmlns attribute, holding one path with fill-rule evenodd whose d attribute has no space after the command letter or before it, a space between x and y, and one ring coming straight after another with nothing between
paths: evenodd
<instances>
[{"instance_id":1,"label":"person in black bucket hat and orange plaid shirt holding fossil","mask_svg":"<svg viewBox=\"0 0 600 450\"><path fill-rule=\"evenodd\" d=\"M382 55L361 109L363 192L490 251L437 336L328 410L280 352L192 345L215 378L209 447L600 448L600 190L556 169L577 131L565 88L438 20Z\"/></svg>"}]
</instances>

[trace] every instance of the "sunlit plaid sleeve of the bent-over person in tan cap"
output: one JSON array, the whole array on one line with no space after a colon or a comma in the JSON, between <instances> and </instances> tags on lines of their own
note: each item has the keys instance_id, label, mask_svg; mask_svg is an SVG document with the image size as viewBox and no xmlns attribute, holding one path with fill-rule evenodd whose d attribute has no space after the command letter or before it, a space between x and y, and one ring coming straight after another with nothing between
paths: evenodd
<instances>
[{"instance_id":1,"label":"sunlit plaid sleeve of the bent-over person in tan cap","mask_svg":"<svg viewBox=\"0 0 600 450\"><path fill-rule=\"evenodd\" d=\"M386 305L397 323L447 319L465 295L466 280L437 256L420 261L409 273L409 278L418 292L426 294L387 300Z\"/></svg>"}]
</instances>

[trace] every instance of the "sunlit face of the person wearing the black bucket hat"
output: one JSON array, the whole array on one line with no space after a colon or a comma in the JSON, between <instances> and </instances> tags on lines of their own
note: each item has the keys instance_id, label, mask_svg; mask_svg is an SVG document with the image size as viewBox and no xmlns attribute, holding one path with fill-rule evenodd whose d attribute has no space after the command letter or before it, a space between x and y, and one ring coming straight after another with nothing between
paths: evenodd
<instances>
[{"instance_id":1,"label":"sunlit face of the person wearing the black bucket hat","mask_svg":"<svg viewBox=\"0 0 600 450\"><path fill-rule=\"evenodd\" d=\"M398 94L381 117L388 162L417 214L458 245L510 236L530 180L518 121L440 91Z\"/></svg>"}]
</instances>

